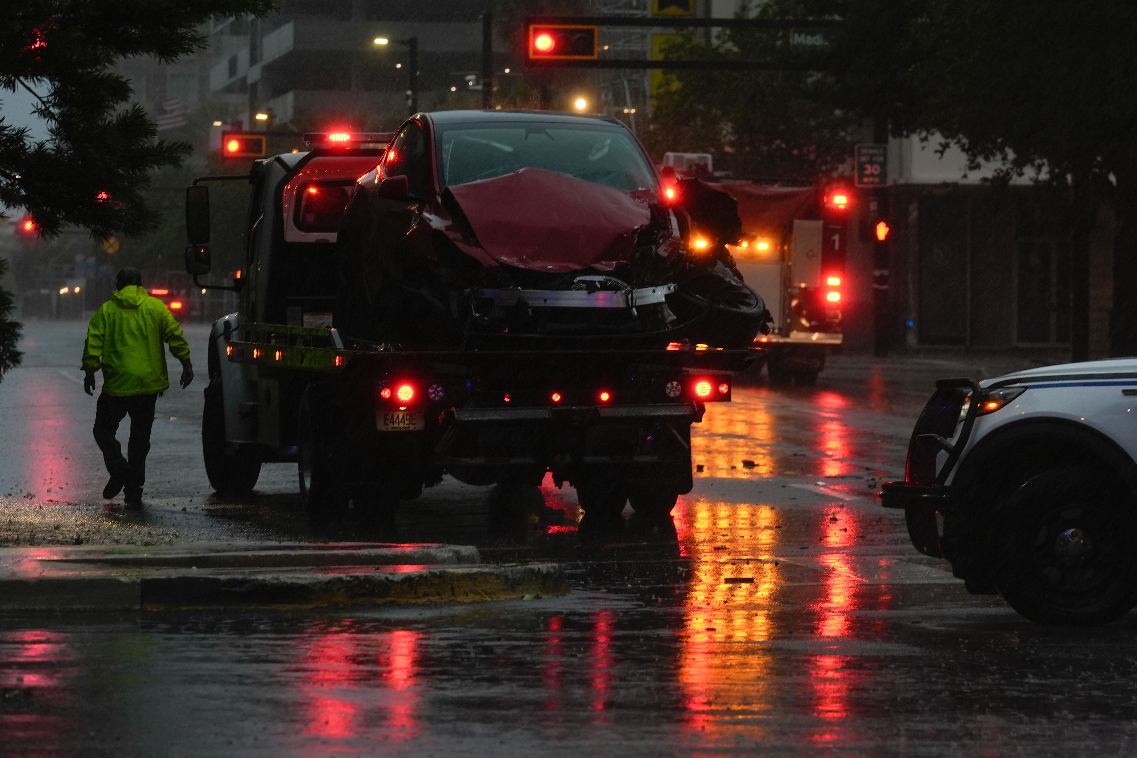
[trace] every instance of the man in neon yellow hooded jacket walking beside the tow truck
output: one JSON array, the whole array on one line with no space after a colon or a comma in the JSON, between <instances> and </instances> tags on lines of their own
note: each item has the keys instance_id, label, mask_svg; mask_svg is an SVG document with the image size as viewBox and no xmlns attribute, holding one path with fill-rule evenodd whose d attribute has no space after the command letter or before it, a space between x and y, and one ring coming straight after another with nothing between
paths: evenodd
<instances>
[{"instance_id":1,"label":"man in neon yellow hooded jacket walking beside the tow truck","mask_svg":"<svg viewBox=\"0 0 1137 758\"><path fill-rule=\"evenodd\" d=\"M158 395L169 389L164 344L182 362L181 385L193 381L190 346L166 304L142 288L138 269L118 272L115 291L91 318L83 346L83 389L94 394L94 374L102 370L102 394L94 413L94 442L102 451L110 480L102 496L126 489L126 508L142 508L146 456ZM115 438L123 417L131 417L131 438L123 458Z\"/></svg>"}]
</instances>

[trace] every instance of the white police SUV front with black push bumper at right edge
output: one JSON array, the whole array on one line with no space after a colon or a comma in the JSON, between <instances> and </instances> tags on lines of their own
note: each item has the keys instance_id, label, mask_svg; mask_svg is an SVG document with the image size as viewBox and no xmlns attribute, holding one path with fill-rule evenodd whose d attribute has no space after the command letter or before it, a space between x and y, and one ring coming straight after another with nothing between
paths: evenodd
<instances>
[{"instance_id":1,"label":"white police SUV front with black push bumper at right edge","mask_svg":"<svg viewBox=\"0 0 1137 758\"><path fill-rule=\"evenodd\" d=\"M969 592L1044 624L1137 604L1137 359L941 379L881 488Z\"/></svg>"}]
</instances>

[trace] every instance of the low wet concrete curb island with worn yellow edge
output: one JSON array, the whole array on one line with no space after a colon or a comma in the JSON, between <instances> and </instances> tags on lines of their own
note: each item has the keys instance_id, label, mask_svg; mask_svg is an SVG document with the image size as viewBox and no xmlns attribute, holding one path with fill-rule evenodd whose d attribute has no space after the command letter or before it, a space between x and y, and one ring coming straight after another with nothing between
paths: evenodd
<instances>
[{"instance_id":1,"label":"low wet concrete curb island with worn yellow edge","mask_svg":"<svg viewBox=\"0 0 1137 758\"><path fill-rule=\"evenodd\" d=\"M0 613L418 604L568 592L556 563L476 563L473 547L296 547L3 550Z\"/></svg>"}]
</instances>

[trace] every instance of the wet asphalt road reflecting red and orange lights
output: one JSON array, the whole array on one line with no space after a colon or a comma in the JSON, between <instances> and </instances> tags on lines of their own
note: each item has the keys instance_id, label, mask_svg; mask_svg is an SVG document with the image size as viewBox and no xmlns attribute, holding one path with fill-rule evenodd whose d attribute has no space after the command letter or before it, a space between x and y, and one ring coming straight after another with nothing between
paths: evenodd
<instances>
[{"instance_id":1,"label":"wet asphalt road reflecting red and orange lights","mask_svg":"<svg viewBox=\"0 0 1137 758\"><path fill-rule=\"evenodd\" d=\"M32 323L26 343L0 384L0 544L355 536L307 533L292 467L265 467L248 502L209 494L200 373L159 399L148 511L105 512L82 324ZM673 535L579 545L573 492L551 484L504 525L491 491L456 483L404 505L404 539L564 561L565 598L0 618L0 755L1132 752L1132 617L1023 621L872 497L936 376L1009 368L850 356L818 388L737 389L696 427Z\"/></svg>"}]
</instances>

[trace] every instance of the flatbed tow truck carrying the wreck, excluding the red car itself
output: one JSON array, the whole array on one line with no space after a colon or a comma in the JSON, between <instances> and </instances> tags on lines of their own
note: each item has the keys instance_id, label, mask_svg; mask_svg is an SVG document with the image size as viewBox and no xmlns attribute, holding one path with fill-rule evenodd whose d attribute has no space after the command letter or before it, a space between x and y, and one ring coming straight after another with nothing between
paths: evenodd
<instances>
[{"instance_id":1,"label":"flatbed tow truck carrying the wreck, excluding the red car itself","mask_svg":"<svg viewBox=\"0 0 1137 758\"><path fill-rule=\"evenodd\" d=\"M339 246L329 230L347 203L313 206L335 217L305 225L301 217L315 217L304 215L306 193L350 191L375 171L391 135L339 145L307 138L312 149L256 160L239 178L252 186L252 200L246 273L226 286L239 291L240 311L218 320L209 338L201 438L211 486L249 492L262 463L296 462L315 526L350 503L360 520L382 527L443 475L508 492L551 473L557 486L576 488L582 532L615 528L628 502L638 516L667 518L692 486L690 425L705 403L730 401L735 373L760 351L687 341L406 349L341 333ZM186 192L186 270L201 287L215 286L198 281L210 267L211 179ZM629 305L642 291L620 296Z\"/></svg>"}]
</instances>

